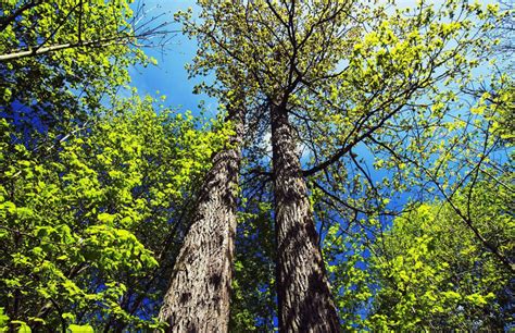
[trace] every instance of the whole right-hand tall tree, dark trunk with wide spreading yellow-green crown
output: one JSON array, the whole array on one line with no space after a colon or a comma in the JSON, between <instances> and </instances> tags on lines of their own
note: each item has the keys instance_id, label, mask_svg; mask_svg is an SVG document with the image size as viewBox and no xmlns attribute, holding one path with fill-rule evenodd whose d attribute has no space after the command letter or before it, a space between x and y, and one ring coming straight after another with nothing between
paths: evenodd
<instances>
[{"instance_id":1,"label":"whole right-hand tall tree, dark trunk with wide spreading yellow-green crown","mask_svg":"<svg viewBox=\"0 0 515 333\"><path fill-rule=\"evenodd\" d=\"M495 22L495 7L447 1L436 10L422 2L389 16L357 1L199 3L202 22L185 25L201 36L197 65L219 67L221 58L231 59L250 78L240 85L253 86L253 100L268 106L262 121L272 128L280 330L338 330L305 178L325 184L322 189L336 185L340 194L359 184L361 200L339 203L365 206L360 213L384 208L386 200L367 200L377 194L370 177L365 185L347 178L354 170L368 176L353 150L391 153L384 143L405 144L399 138L405 128L414 132L413 145L437 146L432 126L441 125L450 113L445 102L454 98L437 87L466 84L488 50L478 36ZM313 157L304 171L300 143ZM434 152L425 157L431 158ZM405 164L398 166L404 174Z\"/></svg>"}]
</instances>

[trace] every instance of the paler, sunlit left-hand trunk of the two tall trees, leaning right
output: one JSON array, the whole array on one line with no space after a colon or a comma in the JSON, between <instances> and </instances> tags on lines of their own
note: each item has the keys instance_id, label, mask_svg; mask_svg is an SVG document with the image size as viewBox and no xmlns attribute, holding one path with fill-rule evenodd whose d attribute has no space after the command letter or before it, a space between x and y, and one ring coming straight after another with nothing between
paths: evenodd
<instances>
[{"instance_id":1,"label":"paler, sunlit left-hand trunk of the two tall trees, leaning right","mask_svg":"<svg viewBox=\"0 0 515 333\"><path fill-rule=\"evenodd\" d=\"M227 332L243 111L229 110L230 147L213 157L159 318L166 332Z\"/></svg>"}]
</instances>

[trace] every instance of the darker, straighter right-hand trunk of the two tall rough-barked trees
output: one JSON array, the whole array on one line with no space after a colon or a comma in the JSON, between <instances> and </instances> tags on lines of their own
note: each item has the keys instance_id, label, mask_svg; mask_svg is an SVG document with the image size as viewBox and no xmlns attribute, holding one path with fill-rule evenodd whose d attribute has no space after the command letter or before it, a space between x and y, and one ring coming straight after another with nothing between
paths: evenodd
<instances>
[{"instance_id":1,"label":"darker, straighter right-hand trunk of the two tall rough-barked trees","mask_svg":"<svg viewBox=\"0 0 515 333\"><path fill-rule=\"evenodd\" d=\"M340 332L288 112L271 112L279 332Z\"/></svg>"}]
</instances>

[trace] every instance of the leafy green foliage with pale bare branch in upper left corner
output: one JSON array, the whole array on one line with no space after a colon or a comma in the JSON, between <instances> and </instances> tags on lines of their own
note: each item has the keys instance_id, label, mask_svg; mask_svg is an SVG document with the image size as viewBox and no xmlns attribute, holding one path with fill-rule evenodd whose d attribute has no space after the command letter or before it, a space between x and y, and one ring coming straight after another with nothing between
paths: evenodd
<instances>
[{"instance_id":1,"label":"leafy green foliage with pale bare branch in upper left corner","mask_svg":"<svg viewBox=\"0 0 515 333\"><path fill-rule=\"evenodd\" d=\"M71 131L129 82L130 64L148 61L134 48L143 32L130 2L2 2L0 104L20 139L52 141Z\"/></svg>"}]
</instances>

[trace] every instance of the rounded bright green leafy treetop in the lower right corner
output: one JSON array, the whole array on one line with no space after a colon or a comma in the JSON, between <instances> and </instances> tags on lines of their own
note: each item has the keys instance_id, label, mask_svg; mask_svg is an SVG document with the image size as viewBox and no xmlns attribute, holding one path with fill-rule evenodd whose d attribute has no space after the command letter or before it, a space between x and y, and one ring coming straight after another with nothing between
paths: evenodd
<instances>
[{"instance_id":1,"label":"rounded bright green leafy treetop in the lower right corner","mask_svg":"<svg viewBox=\"0 0 515 333\"><path fill-rule=\"evenodd\" d=\"M470 197L468 197L470 196ZM515 221L506 188L481 182L456 194L473 208L489 243L513 257ZM393 221L374 258L379 291L372 326L380 330L503 330L512 321L511 272L476 237L450 203L420 205Z\"/></svg>"}]
</instances>

